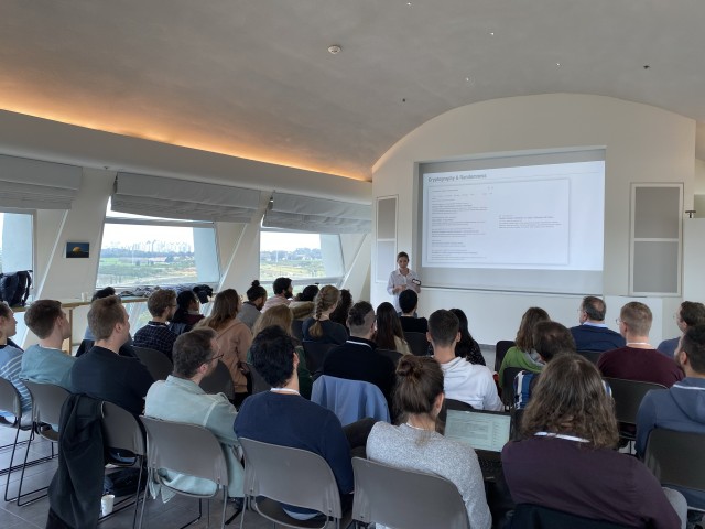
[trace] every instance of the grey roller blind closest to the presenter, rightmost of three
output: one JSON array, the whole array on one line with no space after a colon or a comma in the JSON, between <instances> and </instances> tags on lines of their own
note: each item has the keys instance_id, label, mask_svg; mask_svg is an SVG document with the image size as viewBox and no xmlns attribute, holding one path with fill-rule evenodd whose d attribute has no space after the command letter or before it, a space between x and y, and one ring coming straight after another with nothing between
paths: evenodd
<instances>
[{"instance_id":1,"label":"grey roller blind closest to the presenter, rightmost of three","mask_svg":"<svg viewBox=\"0 0 705 529\"><path fill-rule=\"evenodd\" d=\"M314 234L367 234L372 208L365 204L274 193L262 226Z\"/></svg>"}]
</instances>

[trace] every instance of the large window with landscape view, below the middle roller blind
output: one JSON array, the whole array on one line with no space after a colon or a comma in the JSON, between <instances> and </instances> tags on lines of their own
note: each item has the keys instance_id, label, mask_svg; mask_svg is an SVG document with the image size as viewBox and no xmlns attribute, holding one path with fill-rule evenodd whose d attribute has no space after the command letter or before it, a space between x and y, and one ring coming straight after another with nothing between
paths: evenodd
<instances>
[{"instance_id":1,"label":"large window with landscape view, below the middle roller blind","mask_svg":"<svg viewBox=\"0 0 705 529\"><path fill-rule=\"evenodd\" d=\"M219 280L214 223L116 213L108 203L98 288Z\"/></svg>"}]
</instances>

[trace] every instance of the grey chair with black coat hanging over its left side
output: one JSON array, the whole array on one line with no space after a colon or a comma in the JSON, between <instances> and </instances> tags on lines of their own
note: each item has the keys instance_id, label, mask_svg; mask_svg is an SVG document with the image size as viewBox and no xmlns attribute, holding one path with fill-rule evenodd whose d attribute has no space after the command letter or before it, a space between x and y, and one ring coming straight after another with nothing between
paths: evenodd
<instances>
[{"instance_id":1,"label":"grey chair with black coat hanging over its left side","mask_svg":"<svg viewBox=\"0 0 705 529\"><path fill-rule=\"evenodd\" d=\"M134 495L134 515L132 516L132 527L137 522L138 505L140 500L140 490L142 487L142 463L147 453L147 442L144 433L140 428L137 418L127 410L123 410L112 402L105 401L102 403L102 443L110 449L118 449L134 454L134 463L122 463L111 461L116 466L137 466L139 468L137 494ZM112 512L129 507L131 504L128 499L115 505ZM110 516L110 515L108 515Z\"/></svg>"}]
</instances>

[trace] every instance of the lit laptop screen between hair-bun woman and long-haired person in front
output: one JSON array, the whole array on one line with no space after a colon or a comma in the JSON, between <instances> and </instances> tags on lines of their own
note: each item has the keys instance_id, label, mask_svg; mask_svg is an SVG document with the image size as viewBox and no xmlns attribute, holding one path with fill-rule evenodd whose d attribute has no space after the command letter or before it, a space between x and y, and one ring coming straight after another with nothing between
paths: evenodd
<instances>
[{"instance_id":1,"label":"lit laptop screen between hair-bun woman and long-haired person in front","mask_svg":"<svg viewBox=\"0 0 705 529\"><path fill-rule=\"evenodd\" d=\"M445 436L475 450L501 452L509 441L510 427L509 413L448 410Z\"/></svg>"}]
</instances>

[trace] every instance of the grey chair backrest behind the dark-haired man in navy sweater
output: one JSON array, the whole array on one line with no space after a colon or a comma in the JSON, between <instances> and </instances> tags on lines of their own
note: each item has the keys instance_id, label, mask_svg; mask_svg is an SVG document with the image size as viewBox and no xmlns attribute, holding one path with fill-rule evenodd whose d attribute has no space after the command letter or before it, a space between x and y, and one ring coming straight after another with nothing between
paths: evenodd
<instances>
[{"instance_id":1,"label":"grey chair backrest behind the dark-haired man in navy sweater","mask_svg":"<svg viewBox=\"0 0 705 529\"><path fill-rule=\"evenodd\" d=\"M245 494L314 509L340 518L340 493L326 460L306 450L240 438ZM305 476L305 486L302 486Z\"/></svg>"}]
</instances>

